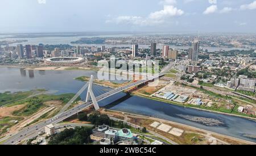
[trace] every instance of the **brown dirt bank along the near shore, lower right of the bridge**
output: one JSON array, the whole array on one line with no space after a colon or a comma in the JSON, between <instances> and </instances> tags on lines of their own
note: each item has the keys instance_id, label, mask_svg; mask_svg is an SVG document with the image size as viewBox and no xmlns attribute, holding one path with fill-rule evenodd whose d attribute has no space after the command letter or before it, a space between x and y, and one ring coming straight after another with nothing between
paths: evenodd
<instances>
[{"instance_id":1,"label":"brown dirt bank along the near shore, lower right of the bridge","mask_svg":"<svg viewBox=\"0 0 256 156\"><path fill-rule=\"evenodd\" d=\"M123 118L123 119L126 118L130 123L133 123L133 124L135 124L135 119L136 119L137 125L142 123L142 127L146 127L149 130L159 133L162 136L177 142L178 144L212 144L211 142L212 139L216 140L216 144L234 144L234 145L253 144L253 142L241 140L234 137L224 136L222 134L217 134L217 133L209 132L207 130L190 127L184 124L174 123L168 120L157 119L154 117L147 117L142 115L134 115L131 113L110 111L108 109L101 109L100 112L102 114L112 115L118 118ZM150 124L154 123L154 121L158 121L159 123L164 123L166 125L170 125L171 127L182 129L184 130L184 133L180 137L177 137L172 134L161 132L160 130L155 130L152 127L150 127Z\"/></svg>"}]
</instances>

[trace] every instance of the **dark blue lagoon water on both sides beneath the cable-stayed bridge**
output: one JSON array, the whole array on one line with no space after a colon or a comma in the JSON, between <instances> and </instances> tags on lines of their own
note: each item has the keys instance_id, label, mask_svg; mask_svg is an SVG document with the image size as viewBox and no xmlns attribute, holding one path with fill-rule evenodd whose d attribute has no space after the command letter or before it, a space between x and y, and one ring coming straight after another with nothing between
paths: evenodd
<instances>
[{"instance_id":1,"label":"dark blue lagoon water on both sides beneath the cable-stayed bridge","mask_svg":"<svg viewBox=\"0 0 256 156\"><path fill-rule=\"evenodd\" d=\"M55 92L55 94L76 93L85 85L85 82L76 81L74 78L84 75L90 76L92 74L97 75L96 71L26 71L19 68L0 68L0 92L45 88L48 91ZM115 82L123 83L123 81ZM108 91L108 89L94 85L96 96ZM101 107L104 107L122 96L125 96L125 93L115 94L110 98L102 100L99 104ZM81 95L82 99L84 97L85 92ZM131 98L110 109L158 117L256 142L256 122L241 117L184 108L138 96L131 96Z\"/></svg>"}]
</instances>

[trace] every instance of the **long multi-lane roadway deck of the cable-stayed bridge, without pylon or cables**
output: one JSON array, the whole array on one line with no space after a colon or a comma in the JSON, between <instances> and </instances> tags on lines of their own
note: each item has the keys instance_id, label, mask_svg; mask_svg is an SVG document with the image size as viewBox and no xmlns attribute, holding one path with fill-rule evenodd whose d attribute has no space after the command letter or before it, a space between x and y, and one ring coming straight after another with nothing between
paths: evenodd
<instances>
[{"instance_id":1,"label":"long multi-lane roadway deck of the cable-stayed bridge, without pylon or cables","mask_svg":"<svg viewBox=\"0 0 256 156\"><path fill-rule=\"evenodd\" d=\"M97 102L99 102L101 100L104 100L104 99L108 98L109 96L117 94L118 92L121 92L123 90L127 90L128 88L131 88L131 87L134 87L134 86L141 85L142 83L148 82L152 79L161 77L162 75L166 74L166 72L169 71L172 68L173 65L174 64L169 64L159 74L156 74L156 75L150 76L150 77L146 77L146 78L144 78L140 81L131 83L127 86L116 88L112 91L106 92L105 94L97 96L96 100L97 100ZM19 144L19 142L25 140L26 138L33 138L35 136L38 136L38 134L40 132L44 132L44 127L46 127L47 125L60 123L61 121L67 119L68 117L73 116L76 113L79 113L83 109L86 109L86 108L88 108L92 105L93 105L92 102L87 102L87 103L84 103L84 104L80 104L79 106L76 106L72 109L69 109L68 111L65 111L64 113L61 113L57 117L53 117L52 119L49 119L49 120L44 121L42 123L35 124L35 125L30 126L30 127L24 128L24 129L20 130L18 133L13 134L12 136L9 136L9 138L5 142L3 142L3 144L4 145Z\"/></svg>"}]
</instances>

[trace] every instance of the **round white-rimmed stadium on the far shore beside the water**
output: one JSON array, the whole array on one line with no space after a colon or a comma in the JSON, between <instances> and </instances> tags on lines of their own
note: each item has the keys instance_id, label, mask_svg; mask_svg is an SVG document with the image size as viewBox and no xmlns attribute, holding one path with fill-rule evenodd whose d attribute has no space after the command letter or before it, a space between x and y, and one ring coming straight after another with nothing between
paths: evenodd
<instances>
[{"instance_id":1,"label":"round white-rimmed stadium on the far shore beside the water","mask_svg":"<svg viewBox=\"0 0 256 156\"><path fill-rule=\"evenodd\" d=\"M44 61L47 65L77 65L82 62L84 62L84 58L81 57L53 57Z\"/></svg>"}]
</instances>

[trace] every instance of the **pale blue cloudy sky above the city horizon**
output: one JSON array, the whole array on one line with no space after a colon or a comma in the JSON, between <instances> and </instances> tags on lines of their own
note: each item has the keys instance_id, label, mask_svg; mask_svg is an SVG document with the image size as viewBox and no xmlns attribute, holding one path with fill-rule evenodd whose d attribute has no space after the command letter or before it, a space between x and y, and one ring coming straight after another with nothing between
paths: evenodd
<instances>
[{"instance_id":1,"label":"pale blue cloudy sky above the city horizon","mask_svg":"<svg viewBox=\"0 0 256 156\"><path fill-rule=\"evenodd\" d=\"M1 0L0 33L256 32L255 0Z\"/></svg>"}]
</instances>

